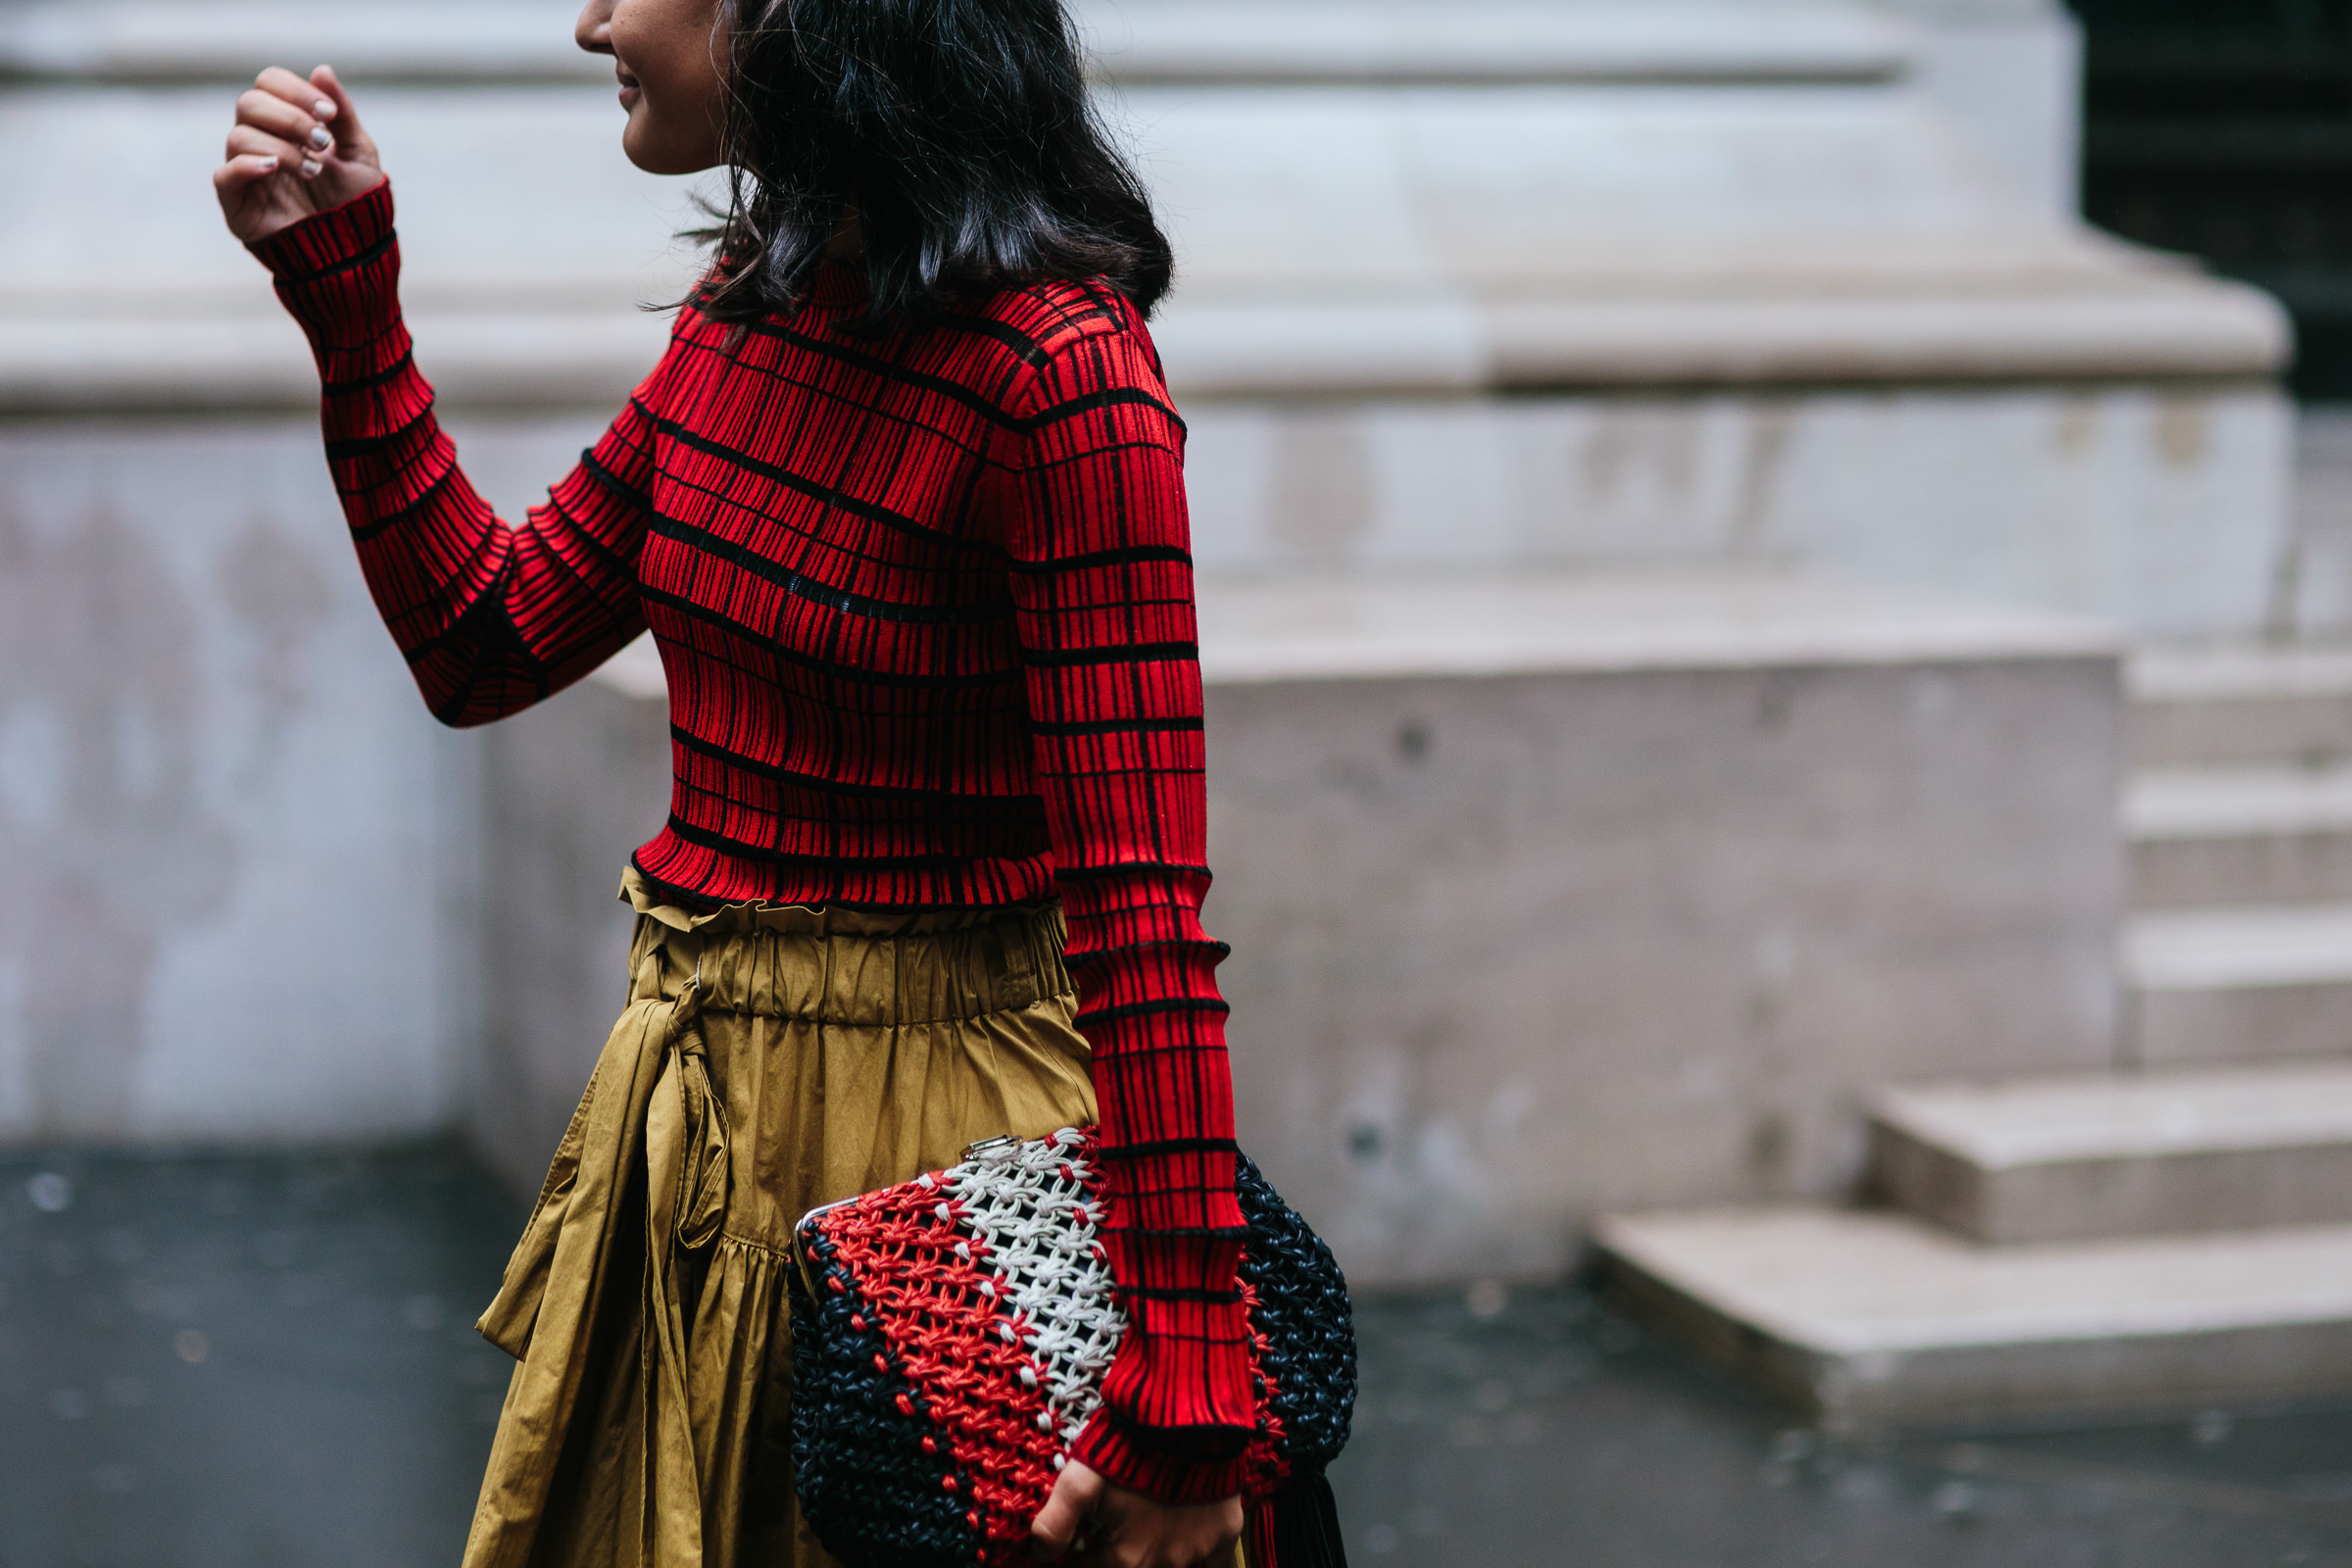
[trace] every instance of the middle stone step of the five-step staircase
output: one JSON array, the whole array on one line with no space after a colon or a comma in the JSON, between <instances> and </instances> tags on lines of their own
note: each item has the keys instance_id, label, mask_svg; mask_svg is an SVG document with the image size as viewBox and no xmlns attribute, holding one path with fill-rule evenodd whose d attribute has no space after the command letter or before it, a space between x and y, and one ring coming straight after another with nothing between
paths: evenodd
<instances>
[{"instance_id":1,"label":"middle stone step of the five-step staircase","mask_svg":"<svg viewBox=\"0 0 2352 1568\"><path fill-rule=\"evenodd\" d=\"M2124 973L2143 1067L2352 1056L2352 905L2138 914Z\"/></svg>"}]
</instances>

